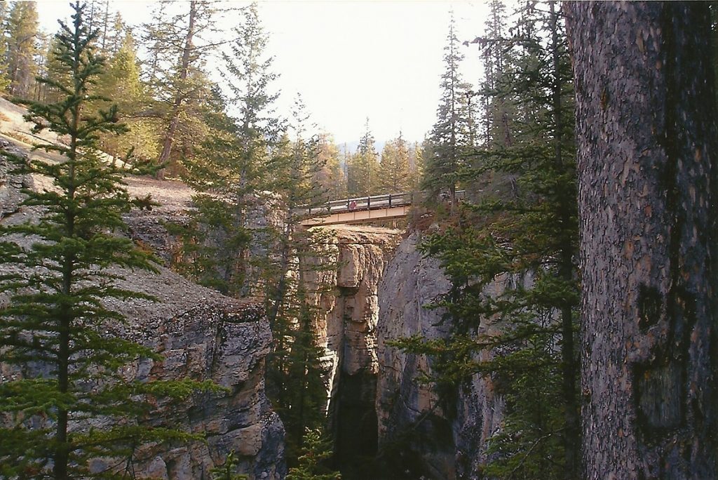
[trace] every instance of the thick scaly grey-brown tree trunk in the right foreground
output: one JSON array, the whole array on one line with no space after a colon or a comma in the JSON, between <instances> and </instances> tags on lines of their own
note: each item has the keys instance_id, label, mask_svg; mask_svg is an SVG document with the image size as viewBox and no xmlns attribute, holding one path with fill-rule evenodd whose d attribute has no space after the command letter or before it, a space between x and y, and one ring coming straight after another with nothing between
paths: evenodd
<instances>
[{"instance_id":1,"label":"thick scaly grey-brown tree trunk in the right foreground","mask_svg":"<svg viewBox=\"0 0 718 480\"><path fill-rule=\"evenodd\" d=\"M717 478L707 4L569 3L587 479Z\"/></svg>"}]
</instances>

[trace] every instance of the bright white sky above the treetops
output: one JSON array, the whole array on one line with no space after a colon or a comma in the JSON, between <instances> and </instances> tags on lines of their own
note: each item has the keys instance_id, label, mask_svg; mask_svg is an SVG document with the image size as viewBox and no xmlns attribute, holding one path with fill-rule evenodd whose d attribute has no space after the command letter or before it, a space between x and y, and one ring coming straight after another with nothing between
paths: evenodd
<instances>
[{"instance_id":1,"label":"bright white sky above the treetops","mask_svg":"<svg viewBox=\"0 0 718 480\"><path fill-rule=\"evenodd\" d=\"M111 1L129 24L146 22L151 1ZM67 1L39 0L40 24L55 32L70 15ZM368 119L374 137L421 141L436 120L449 12L459 40L483 30L483 1L269 0L259 1L274 56L278 111L301 93L317 126L337 144L355 142ZM462 47L465 80L477 83L478 50ZM209 65L218 71L219 63Z\"/></svg>"}]
</instances>

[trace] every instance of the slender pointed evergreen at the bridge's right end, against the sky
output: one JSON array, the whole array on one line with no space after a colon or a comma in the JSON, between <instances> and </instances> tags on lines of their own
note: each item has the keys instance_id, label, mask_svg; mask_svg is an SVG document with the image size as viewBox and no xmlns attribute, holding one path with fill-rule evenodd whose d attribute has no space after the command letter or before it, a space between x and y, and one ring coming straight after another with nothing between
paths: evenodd
<instances>
[{"instance_id":1,"label":"slender pointed evergreen at the bridge's right end, against the sky","mask_svg":"<svg viewBox=\"0 0 718 480\"><path fill-rule=\"evenodd\" d=\"M454 17L449 23L447 46L444 47L446 70L442 75L442 97L437 109L437 122L432 128L432 156L426 157L423 188L429 198L446 195L452 213L456 211L456 189L469 147L472 147L470 84L462 80L460 65L464 55L459 51Z\"/></svg>"}]
</instances>

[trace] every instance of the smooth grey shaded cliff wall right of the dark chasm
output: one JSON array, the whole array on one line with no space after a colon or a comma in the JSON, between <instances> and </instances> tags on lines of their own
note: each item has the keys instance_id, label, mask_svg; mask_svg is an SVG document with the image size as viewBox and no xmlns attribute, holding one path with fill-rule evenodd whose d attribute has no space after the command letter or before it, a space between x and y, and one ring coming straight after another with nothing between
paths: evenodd
<instances>
[{"instance_id":1,"label":"smooth grey shaded cliff wall right of the dark chasm","mask_svg":"<svg viewBox=\"0 0 718 480\"><path fill-rule=\"evenodd\" d=\"M432 370L426 356L387 344L449 334L444 312L424 308L447 292L449 282L437 262L417 251L418 242L419 234L412 234L398 246L379 285L376 413L386 478L479 478L485 442L500 423L501 402L490 382L475 376L459 392L439 395L416 382Z\"/></svg>"}]
</instances>

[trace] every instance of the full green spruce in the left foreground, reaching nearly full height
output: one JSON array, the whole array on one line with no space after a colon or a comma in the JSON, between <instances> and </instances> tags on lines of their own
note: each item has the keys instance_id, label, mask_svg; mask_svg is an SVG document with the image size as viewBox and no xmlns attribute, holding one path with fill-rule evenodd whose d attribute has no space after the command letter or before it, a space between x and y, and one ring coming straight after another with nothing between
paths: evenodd
<instances>
[{"instance_id":1,"label":"full green spruce in the left foreground, reaching nearly full height","mask_svg":"<svg viewBox=\"0 0 718 480\"><path fill-rule=\"evenodd\" d=\"M4 478L112 477L90 473L93 458L113 459L110 469L131 466L136 446L192 435L167 428L149 429L141 418L151 397L186 397L210 384L133 382L122 367L149 349L113 335L123 318L103 300L148 298L116 286L121 274L110 267L151 269L146 254L117 234L130 208L122 171L103 165L96 154L98 133L124 127L116 107L93 115L85 111L90 86L102 63L93 52L97 32L83 22L85 6L74 6L73 26L62 24L57 60L67 83L50 82L65 97L58 103L30 106L27 118L36 131L52 129L67 144L47 145L64 162L32 160L27 170L47 175L52 190L27 191L26 206L42 208L37 223L7 226L1 233L25 236L23 247L5 239L0 258L11 267L0 276L0 291L11 302L0 310L1 361L17 368L0 383L0 474ZM47 367L47 368L45 368ZM95 420L93 422L93 420Z\"/></svg>"}]
</instances>

